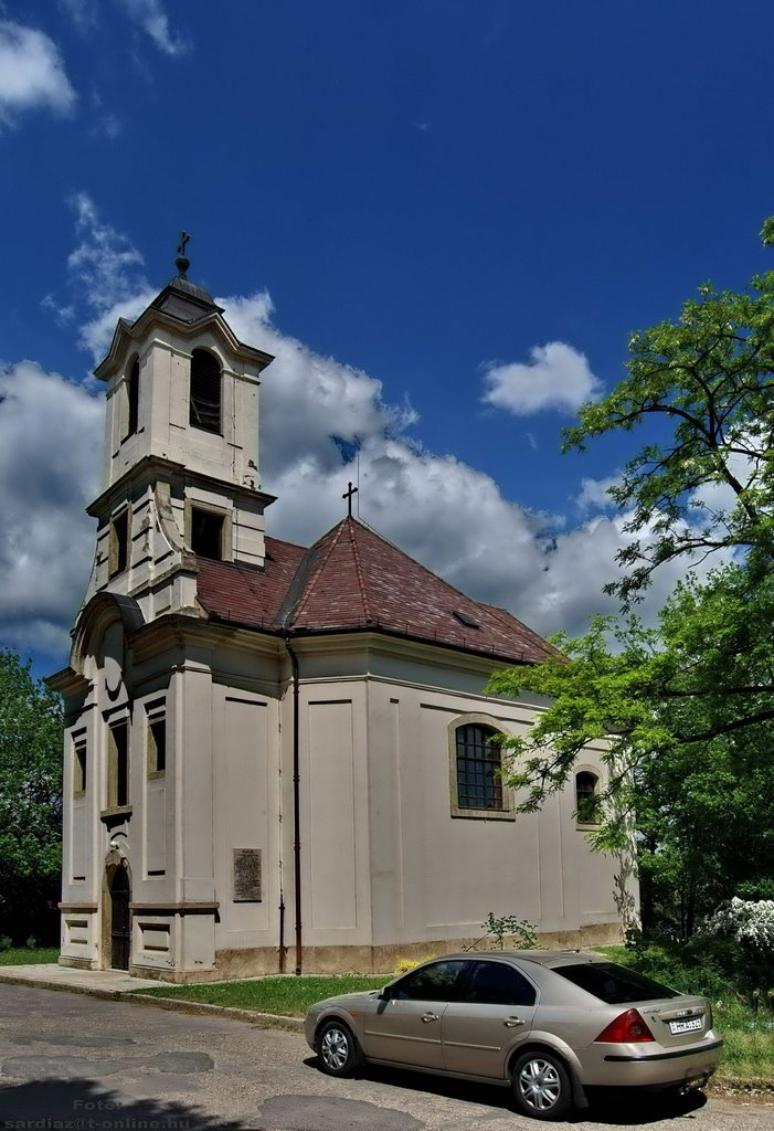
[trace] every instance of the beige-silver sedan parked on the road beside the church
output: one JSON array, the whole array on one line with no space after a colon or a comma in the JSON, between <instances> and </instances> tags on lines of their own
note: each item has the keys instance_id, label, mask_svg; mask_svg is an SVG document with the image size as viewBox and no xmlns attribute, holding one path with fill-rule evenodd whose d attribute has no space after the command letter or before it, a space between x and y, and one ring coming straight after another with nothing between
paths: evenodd
<instances>
[{"instance_id":1,"label":"beige-silver sedan parked on the road beside the church","mask_svg":"<svg viewBox=\"0 0 774 1131\"><path fill-rule=\"evenodd\" d=\"M510 1086L539 1120L589 1087L702 1087L723 1046L706 998L567 950L446 955L318 1002L305 1035L330 1076L367 1062Z\"/></svg>"}]
</instances>

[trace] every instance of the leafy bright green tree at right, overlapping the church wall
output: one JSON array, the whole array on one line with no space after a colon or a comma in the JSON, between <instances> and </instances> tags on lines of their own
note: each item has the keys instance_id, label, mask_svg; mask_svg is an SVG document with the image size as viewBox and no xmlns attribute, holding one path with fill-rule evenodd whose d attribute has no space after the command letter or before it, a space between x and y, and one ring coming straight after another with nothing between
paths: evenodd
<instances>
[{"instance_id":1,"label":"leafy bright green tree at right, overlapping the church wall","mask_svg":"<svg viewBox=\"0 0 774 1131\"><path fill-rule=\"evenodd\" d=\"M764 238L774 242L774 221ZM702 287L629 351L626 378L565 434L583 449L649 432L610 489L635 535L607 586L625 619L551 638L560 655L495 673L489 690L549 697L531 733L505 743L523 810L566 784L586 743L602 744L592 839L625 851L636 814L644 918L689 936L720 899L774 874L774 273L742 293ZM646 628L632 610L675 560L686 579Z\"/></svg>"}]
</instances>

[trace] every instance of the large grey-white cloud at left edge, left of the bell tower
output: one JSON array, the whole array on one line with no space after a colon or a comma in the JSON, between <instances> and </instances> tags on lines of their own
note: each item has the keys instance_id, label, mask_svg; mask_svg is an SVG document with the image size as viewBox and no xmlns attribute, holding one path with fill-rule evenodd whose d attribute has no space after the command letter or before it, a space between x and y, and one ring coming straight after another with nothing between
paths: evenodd
<instances>
[{"instance_id":1,"label":"large grey-white cloud at left edge, left of the bell tower","mask_svg":"<svg viewBox=\"0 0 774 1131\"><path fill-rule=\"evenodd\" d=\"M67 654L86 590L104 402L33 362L0 369L0 639Z\"/></svg>"}]
</instances>

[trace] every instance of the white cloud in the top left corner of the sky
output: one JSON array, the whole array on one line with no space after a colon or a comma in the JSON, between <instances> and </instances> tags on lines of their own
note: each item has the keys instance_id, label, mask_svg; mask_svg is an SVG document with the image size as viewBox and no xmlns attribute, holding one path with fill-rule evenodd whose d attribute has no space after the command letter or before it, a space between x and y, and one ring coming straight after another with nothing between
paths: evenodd
<instances>
[{"instance_id":1,"label":"white cloud in the top left corner of the sky","mask_svg":"<svg viewBox=\"0 0 774 1131\"><path fill-rule=\"evenodd\" d=\"M0 123L18 114L49 107L69 113L76 92L53 40L33 27L0 20Z\"/></svg>"}]
</instances>

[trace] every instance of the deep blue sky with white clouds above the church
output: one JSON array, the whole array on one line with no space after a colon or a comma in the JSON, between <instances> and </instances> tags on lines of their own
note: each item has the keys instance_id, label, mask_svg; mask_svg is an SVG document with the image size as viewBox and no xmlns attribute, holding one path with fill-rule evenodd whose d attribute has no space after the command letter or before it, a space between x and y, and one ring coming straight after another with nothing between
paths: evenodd
<instances>
[{"instance_id":1,"label":"deep blue sky with white clouds above the church","mask_svg":"<svg viewBox=\"0 0 774 1131\"><path fill-rule=\"evenodd\" d=\"M559 430L633 329L771 266L773 34L763 0L0 0L0 642L66 662L88 374L181 228L190 276L277 354L268 533L313 541L359 475L409 553L581 631L610 607L602 489L637 438L563 457Z\"/></svg>"}]
</instances>

